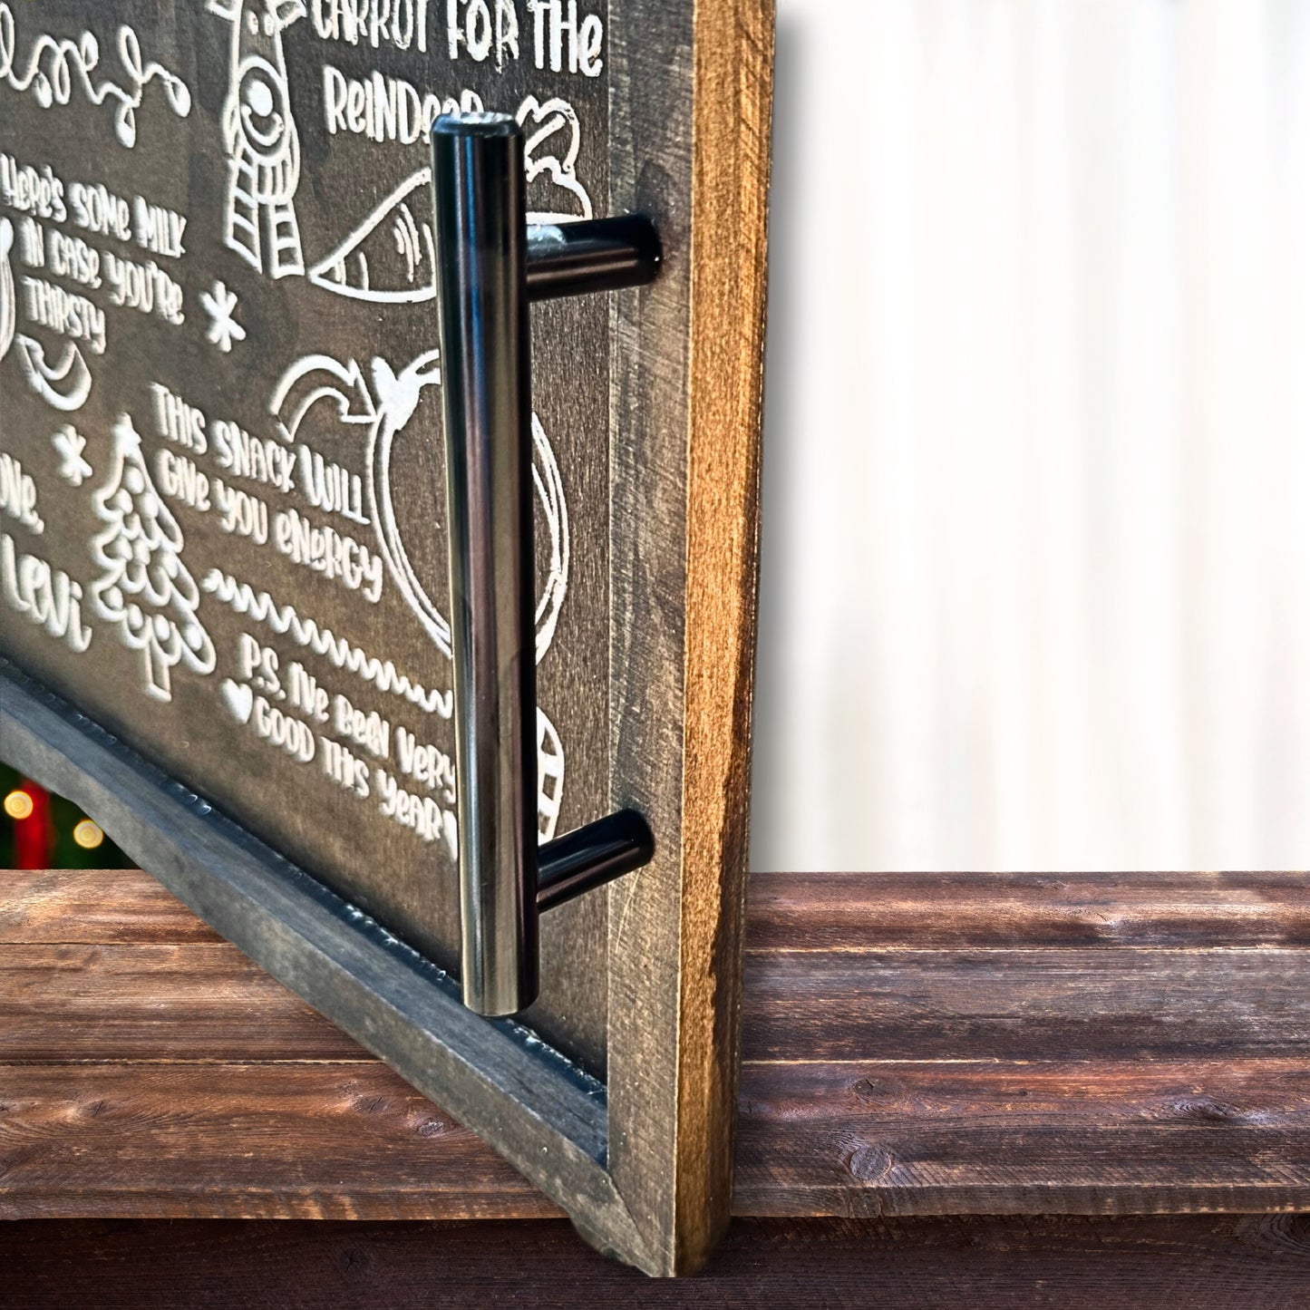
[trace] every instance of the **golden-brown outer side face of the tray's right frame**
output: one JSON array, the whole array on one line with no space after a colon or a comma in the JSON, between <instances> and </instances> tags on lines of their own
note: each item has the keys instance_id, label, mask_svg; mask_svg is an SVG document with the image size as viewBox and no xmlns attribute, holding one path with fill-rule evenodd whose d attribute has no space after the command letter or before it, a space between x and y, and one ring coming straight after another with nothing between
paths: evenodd
<instances>
[{"instance_id":1,"label":"golden-brown outer side face of the tray's right frame","mask_svg":"<svg viewBox=\"0 0 1310 1310\"><path fill-rule=\"evenodd\" d=\"M676 1272L709 1258L732 1195L773 35L773 0L696 7Z\"/></svg>"}]
</instances>

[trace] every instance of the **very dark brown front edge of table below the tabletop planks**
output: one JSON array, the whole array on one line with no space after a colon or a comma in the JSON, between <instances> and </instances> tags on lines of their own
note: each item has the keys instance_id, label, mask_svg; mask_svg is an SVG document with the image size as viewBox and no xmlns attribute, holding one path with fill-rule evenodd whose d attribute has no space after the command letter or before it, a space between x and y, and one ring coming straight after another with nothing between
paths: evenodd
<instances>
[{"instance_id":1,"label":"very dark brown front edge of table below the tabletop planks","mask_svg":"<svg viewBox=\"0 0 1310 1310\"><path fill-rule=\"evenodd\" d=\"M1302 1310L1310 1221L743 1220L698 1279L648 1282L563 1221L39 1222L0 1231L12 1310L870 1305L935 1310Z\"/></svg>"}]
</instances>

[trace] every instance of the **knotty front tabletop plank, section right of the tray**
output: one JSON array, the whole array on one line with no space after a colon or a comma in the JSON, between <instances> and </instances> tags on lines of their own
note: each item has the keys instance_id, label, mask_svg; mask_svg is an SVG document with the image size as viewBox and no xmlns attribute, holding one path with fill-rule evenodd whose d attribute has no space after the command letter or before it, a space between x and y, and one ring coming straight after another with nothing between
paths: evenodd
<instances>
[{"instance_id":1,"label":"knotty front tabletop plank, section right of the tray","mask_svg":"<svg viewBox=\"0 0 1310 1310\"><path fill-rule=\"evenodd\" d=\"M745 1064L739 1214L1310 1207L1310 1065Z\"/></svg>"}]
</instances>

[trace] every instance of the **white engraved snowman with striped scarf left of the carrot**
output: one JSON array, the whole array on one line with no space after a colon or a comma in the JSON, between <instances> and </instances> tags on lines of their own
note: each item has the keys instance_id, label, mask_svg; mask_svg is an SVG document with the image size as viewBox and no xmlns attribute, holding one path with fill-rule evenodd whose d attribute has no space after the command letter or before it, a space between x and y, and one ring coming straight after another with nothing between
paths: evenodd
<instances>
[{"instance_id":1,"label":"white engraved snowman with striped scarf left of the carrot","mask_svg":"<svg viewBox=\"0 0 1310 1310\"><path fill-rule=\"evenodd\" d=\"M301 275L300 136L291 114L282 33L305 16L304 0L210 0L208 8L232 24L223 107L225 244L270 278Z\"/></svg>"}]
</instances>

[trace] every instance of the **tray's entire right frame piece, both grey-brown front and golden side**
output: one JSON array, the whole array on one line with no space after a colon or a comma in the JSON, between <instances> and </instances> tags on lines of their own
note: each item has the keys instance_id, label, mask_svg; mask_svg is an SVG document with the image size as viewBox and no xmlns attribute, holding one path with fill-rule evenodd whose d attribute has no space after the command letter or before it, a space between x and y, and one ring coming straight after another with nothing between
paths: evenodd
<instances>
[{"instance_id":1,"label":"tray's entire right frame piece, both grey-brown front and golden side","mask_svg":"<svg viewBox=\"0 0 1310 1310\"><path fill-rule=\"evenodd\" d=\"M610 893L610 1169L677 1273L703 1263L731 1201L773 5L634 21L647 8L625 7L641 38L610 73L613 203L655 215L667 253L616 325L612 755L616 796L639 789L681 850ZM683 576L652 574L679 537ZM679 730L681 749L659 744ZM676 965L652 976L651 960Z\"/></svg>"}]
</instances>

